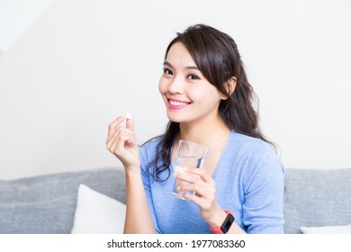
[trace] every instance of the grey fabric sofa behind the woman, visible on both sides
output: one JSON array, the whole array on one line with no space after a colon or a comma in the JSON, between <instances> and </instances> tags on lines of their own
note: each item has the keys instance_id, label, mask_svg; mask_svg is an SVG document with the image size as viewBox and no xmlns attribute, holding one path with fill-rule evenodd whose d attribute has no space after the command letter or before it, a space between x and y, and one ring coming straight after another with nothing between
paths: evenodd
<instances>
[{"instance_id":1,"label":"grey fabric sofa behind the woman, visible on both sides","mask_svg":"<svg viewBox=\"0 0 351 252\"><path fill-rule=\"evenodd\" d=\"M79 184L125 202L121 167L0 180L0 233L70 233ZM350 188L351 169L287 169L285 233L351 224Z\"/></svg>"}]
</instances>

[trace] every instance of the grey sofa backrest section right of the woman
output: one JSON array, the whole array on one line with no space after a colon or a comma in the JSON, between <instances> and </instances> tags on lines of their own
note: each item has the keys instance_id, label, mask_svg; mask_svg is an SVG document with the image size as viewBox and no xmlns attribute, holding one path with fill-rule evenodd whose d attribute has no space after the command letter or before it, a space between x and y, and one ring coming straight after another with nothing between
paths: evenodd
<instances>
[{"instance_id":1,"label":"grey sofa backrest section right of the woman","mask_svg":"<svg viewBox=\"0 0 351 252\"><path fill-rule=\"evenodd\" d=\"M301 227L351 224L351 168L288 168L285 173L284 232Z\"/></svg>"}]
</instances>

